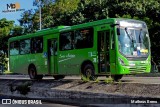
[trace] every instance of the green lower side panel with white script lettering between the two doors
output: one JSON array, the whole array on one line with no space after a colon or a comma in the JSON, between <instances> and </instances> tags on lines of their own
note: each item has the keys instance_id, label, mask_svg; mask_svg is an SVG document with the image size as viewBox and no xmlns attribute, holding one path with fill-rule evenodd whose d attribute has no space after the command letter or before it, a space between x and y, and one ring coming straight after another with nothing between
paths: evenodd
<instances>
[{"instance_id":1,"label":"green lower side panel with white script lettering between the two doors","mask_svg":"<svg viewBox=\"0 0 160 107\"><path fill-rule=\"evenodd\" d=\"M97 63L97 52L94 49L79 49L59 51L58 68L59 74L80 74L81 64L84 61Z\"/></svg>"}]
</instances>

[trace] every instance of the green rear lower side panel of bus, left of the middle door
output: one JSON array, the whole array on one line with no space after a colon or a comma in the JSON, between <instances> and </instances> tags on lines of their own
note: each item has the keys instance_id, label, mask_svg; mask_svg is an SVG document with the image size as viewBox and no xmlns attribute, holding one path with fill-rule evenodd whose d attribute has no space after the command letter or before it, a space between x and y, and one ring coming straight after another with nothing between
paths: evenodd
<instances>
[{"instance_id":1,"label":"green rear lower side panel of bus, left of the middle door","mask_svg":"<svg viewBox=\"0 0 160 107\"><path fill-rule=\"evenodd\" d=\"M10 57L10 70L15 73L28 74L29 65L33 64L36 66L37 74L45 73L44 58L42 54L34 55L20 55ZM21 60L20 60L21 59ZM17 67L17 65L19 67Z\"/></svg>"}]
</instances>

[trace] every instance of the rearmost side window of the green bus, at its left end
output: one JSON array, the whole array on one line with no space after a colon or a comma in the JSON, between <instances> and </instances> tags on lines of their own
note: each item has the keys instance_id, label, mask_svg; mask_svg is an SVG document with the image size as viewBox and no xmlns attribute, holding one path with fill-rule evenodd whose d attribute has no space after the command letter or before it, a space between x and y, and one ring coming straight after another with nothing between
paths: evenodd
<instances>
[{"instance_id":1,"label":"rearmost side window of the green bus, at its left end","mask_svg":"<svg viewBox=\"0 0 160 107\"><path fill-rule=\"evenodd\" d=\"M10 43L10 55L18 55L19 54L19 41Z\"/></svg>"}]
</instances>

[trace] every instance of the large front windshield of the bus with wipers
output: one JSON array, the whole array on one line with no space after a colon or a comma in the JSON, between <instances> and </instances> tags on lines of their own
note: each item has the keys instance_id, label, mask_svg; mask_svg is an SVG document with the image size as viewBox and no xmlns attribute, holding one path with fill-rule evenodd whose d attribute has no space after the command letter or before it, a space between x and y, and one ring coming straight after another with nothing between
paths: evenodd
<instances>
[{"instance_id":1,"label":"large front windshield of the bus with wipers","mask_svg":"<svg viewBox=\"0 0 160 107\"><path fill-rule=\"evenodd\" d=\"M119 51L126 57L146 57L149 53L149 35L146 29L122 28L118 35Z\"/></svg>"}]
</instances>

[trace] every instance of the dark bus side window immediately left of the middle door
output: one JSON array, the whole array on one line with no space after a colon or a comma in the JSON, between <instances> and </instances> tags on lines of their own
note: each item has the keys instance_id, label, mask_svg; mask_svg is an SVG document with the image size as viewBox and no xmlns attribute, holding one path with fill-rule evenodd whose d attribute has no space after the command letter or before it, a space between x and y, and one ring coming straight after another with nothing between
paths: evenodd
<instances>
[{"instance_id":1,"label":"dark bus side window immediately left of the middle door","mask_svg":"<svg viewBox=\"0 0 160 107\"><path fill-rule=\"evenodd\" d=\"M31 53L43 52L43 38L37 37L31 39Z\"/></svg>"}]
</instances>

